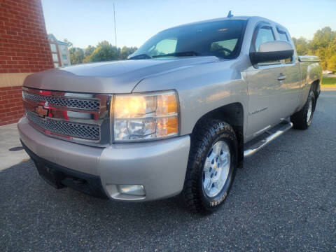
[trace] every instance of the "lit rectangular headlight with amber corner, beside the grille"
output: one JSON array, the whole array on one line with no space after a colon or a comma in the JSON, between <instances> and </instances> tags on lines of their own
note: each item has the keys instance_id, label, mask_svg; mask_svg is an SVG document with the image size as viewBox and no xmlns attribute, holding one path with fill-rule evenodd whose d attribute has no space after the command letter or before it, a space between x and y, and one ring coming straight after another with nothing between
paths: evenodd
<instances>
[{"instance_id":1,"label":"lit rectangular headlight with amber corner, beside the grille","mask_svg":"<svg viewBox=\"0 0 336 252\"><path fill-rule=\"evenodd\" d=\"M113 106L114 141L164 139L179 134L176 93L117 94Z\"/></svg>"}]
</instances>

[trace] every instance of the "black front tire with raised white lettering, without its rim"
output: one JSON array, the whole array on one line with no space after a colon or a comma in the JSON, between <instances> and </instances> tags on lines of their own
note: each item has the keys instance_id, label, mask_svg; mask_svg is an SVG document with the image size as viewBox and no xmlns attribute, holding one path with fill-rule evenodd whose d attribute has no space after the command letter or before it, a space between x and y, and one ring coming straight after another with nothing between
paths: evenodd
<instances>
[{"instance_id":1,"label":"black front tire with raised white lettering, without its rim","mask_svg":"<svg viewBox=\"0 0 336 252\"><path fill-rule=\"evenodd\" d=\"M230 149L228 179L215 197L208 197L203 189L203 167L209 151L217 141L225 141ZM204 120L198 123L191 136L186 179L181 193L187 209L210 214L223 204L235 179L237 167L237 138L232 127L221 120Z\"/></svg>"}]
</instances>

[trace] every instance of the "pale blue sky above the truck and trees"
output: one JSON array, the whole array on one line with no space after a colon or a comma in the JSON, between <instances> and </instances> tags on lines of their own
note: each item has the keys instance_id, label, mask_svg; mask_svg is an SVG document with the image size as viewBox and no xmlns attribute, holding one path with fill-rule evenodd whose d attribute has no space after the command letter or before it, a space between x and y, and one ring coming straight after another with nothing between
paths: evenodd
<instances>
[{"instance_id":1,"label":"pale blue sky above the truck and trees","mask_svg":"<svg viewBox=\"0 0 336 252\"><path fill-rule=\"evenodd\" d=\"M233 15L258 15L311 39L325 26L336 30L336 0L41 0L48 34L86 48L113 45L113 2L118 47L137 46L163 29Z\"/></svg>"}]
</instances>

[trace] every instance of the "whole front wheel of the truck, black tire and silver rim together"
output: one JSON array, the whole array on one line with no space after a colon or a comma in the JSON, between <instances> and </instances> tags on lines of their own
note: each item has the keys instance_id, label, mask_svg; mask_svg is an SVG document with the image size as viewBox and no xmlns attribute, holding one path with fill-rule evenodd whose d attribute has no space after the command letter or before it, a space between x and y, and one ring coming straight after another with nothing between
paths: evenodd
<instances>
[{"instance_id":1,"label":"whole front wheel of the truck, black tire and silver rim together","mask_svg":"<svg viewBox=\"0 0 336 252\"><path fill-rule=\"evenodd\" d=\"M237 138L221 120L204 120L193 132L183 200L193 212L211 213L227 197L235 179Z\"/></svg>"}]
</instances>

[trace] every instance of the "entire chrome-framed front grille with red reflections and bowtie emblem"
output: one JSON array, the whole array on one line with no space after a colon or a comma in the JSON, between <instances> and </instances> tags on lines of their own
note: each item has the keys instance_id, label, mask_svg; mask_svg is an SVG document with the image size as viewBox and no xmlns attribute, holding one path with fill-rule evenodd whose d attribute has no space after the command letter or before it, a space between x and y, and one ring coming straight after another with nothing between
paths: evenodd
<instances>
[{"instance_id":1,"label":"entire chrome-framed front grille with red reflections and bowtie emblem","mask_svg":"<svg viewBox=\"0 0 336 252\"><path fill-rule=\"evenodd\" d=\"M26 116L37 130L93 146L111 143L110 94L22 89Z\"/></svg>"}]
</instances>

